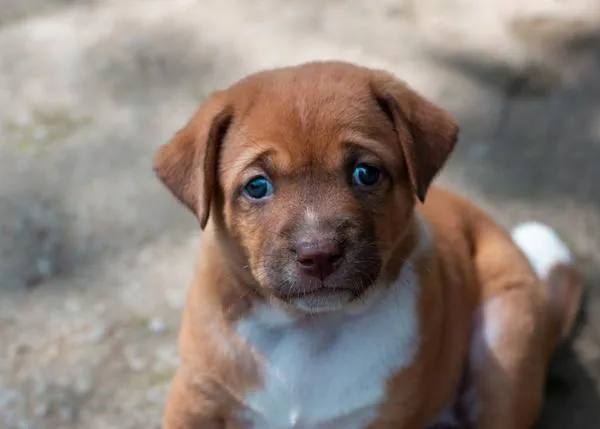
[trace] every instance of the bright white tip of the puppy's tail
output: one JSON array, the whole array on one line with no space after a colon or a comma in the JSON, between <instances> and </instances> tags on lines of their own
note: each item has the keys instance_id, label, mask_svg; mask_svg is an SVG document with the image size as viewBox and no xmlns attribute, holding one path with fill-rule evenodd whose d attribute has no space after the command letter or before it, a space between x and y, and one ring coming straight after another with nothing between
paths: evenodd
<instances>
[{"instance_id":1,"label":"bright white tip of the puppy's tail","mask_svg":"<svg viewBox=\"0 0 600 429\"><path fill-rule=\"evenodd\" d=\"M513 229L512 238L542 279L547 278L554 264L572 262L573 257L567 245L547 225L538 222L523 223Z\"/></svg>"}]
</instances>

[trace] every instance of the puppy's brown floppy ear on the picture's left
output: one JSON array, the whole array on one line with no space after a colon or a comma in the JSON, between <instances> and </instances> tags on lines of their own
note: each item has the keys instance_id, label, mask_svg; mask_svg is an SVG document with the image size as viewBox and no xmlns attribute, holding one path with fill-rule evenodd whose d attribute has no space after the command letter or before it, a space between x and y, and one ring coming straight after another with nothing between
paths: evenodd
<instances>
[{"instance_id":1,"label":"puppy's brown floppy ear on the picture's left","mask_svg":"<svg viewBox=\"0 0 600 429\"><path fill-rule=\"evenodd\" d=\"M202 229L210 215L219 149L231 119L231 107L222 93L216 93L154 156L154 172L196 214Z\"/></svg>"}]
</instances>

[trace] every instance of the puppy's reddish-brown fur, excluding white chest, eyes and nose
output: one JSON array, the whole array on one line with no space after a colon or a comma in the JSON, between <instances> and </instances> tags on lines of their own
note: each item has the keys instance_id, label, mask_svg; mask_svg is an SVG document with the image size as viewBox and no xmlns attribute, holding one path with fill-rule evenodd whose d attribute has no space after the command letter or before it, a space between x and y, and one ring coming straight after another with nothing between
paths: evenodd
<instances>
[{"instance_id":1,"label":"puppy's reddish-brown fur, excluding white chest, eyes and nose","mask_svg":"<svg viewBox=\"0 0 600 429\"><path fill-rule=\"evenodd\" d=\"M457 133L448 113L395 77L341 62L260 72L201 107L155 158L160 179L205 228L166 429L243 427L236 410L261 383L260 356L233 324L264 301L302 317L294 288L316 286L290 274L289 249L310 232L307 206L324 219L319 235L344 243L343 261L325 284L358 284L348 305L360 304L376 280L396 278L418 240L415 206L432 228L433 248L417 266L423 342L414 364L389 380L373 429L423 428L441 411L470 361L480 310L494 299L507 303L514 320L502 348L466 370L485 409L476 424L530 426L551 350L568 331L579 296L571 294L563 317L501 228L431 187ZM382 169L377 188L361 193L348 185L348 167L357 162ZM241 195L257 174L276 186L266 204ZM560 293L576 290L556 283Z\"/></svg>"}]
</instances>

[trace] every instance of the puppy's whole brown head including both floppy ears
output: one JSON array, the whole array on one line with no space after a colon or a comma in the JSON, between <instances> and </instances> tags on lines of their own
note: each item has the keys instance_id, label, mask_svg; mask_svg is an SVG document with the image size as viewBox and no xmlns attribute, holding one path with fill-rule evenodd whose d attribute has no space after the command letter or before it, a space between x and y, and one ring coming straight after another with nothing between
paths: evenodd
<instances>
[{"instance_id":1,"label":"puppy's whole brown head including both floppy ears","mask_svg":"<svg viewBox=\"0 0 600 429\"><path fill-rule=\"evenodd\" d=\"M251 75L214 94L155 171L222 232L262 297L308 312L360 302L450 155L458 127L383 71L341 62Z\"/></svg>"}]
</instances>

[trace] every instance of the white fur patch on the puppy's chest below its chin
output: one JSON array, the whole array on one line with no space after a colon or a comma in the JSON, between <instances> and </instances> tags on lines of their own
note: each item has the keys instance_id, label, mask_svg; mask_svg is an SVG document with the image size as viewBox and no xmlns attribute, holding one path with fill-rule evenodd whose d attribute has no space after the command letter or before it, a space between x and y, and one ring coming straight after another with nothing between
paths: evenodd
<instances>
[{"instance_id":1,"label":"white fur patch on the puppy's chest below its chin","mask_svg":"<svg viewBox=\"0 0 600 429\"><path fill-rule=\"evenodd\" d=\"M419 346L419 285L411 263L360 314L292 320L263 307L237 332L263 360L262 388L250 392L252 429L359 429L376 416L390 376Z\"/></svg>"}]
</instances>

